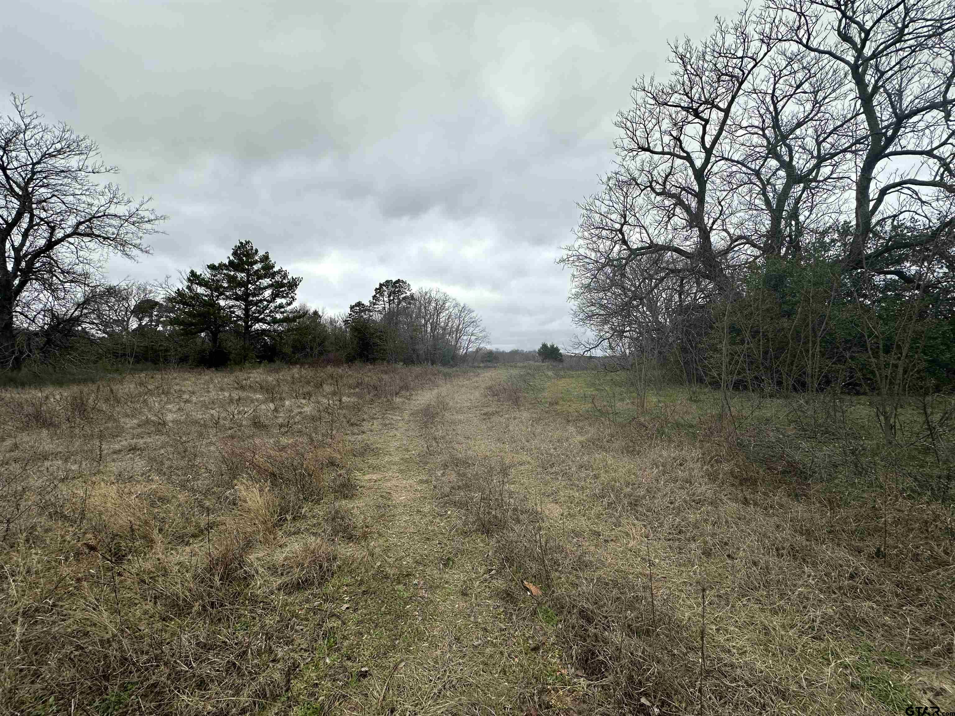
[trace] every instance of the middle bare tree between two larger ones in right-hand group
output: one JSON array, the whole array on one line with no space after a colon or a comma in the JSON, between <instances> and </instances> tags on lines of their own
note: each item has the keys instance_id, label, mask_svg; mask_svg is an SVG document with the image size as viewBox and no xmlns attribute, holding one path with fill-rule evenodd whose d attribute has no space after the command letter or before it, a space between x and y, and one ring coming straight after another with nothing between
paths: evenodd
<instances>
[{"instance_id":1,"label":"middle bare tree between two larger ones in right-hand group","mask_svg":"<svg viewBox=\"0 0 955 716\"><path fill-rule=\"evenodd\" d=\"M778 18L758 25L775 43ZM750 77L730 122L735 230L750 237L755 257L799 254L807 232L838 223L850 188L859 117L846 74L798 49L775 46Z\"/></svg>"}]
</instances>

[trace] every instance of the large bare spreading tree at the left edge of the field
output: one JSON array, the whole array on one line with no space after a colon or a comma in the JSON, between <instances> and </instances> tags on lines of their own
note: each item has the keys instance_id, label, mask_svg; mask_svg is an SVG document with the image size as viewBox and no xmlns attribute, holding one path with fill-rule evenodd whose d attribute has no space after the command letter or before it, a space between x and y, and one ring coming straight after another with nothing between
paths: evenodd
<instances>
[{"instance_id":1,"label":"large bare spreading tree at the left edge of the field","mask_svg":"<svg viewBox=\"0 0 955 716\"><path fill-rule=\"evenodd\" d=\"M164 219L103 175L89 137L14 95L0 120L0 366L16 369L73 329L100 292L107 252L133 258Z\"/></svg>"}]
</instances>

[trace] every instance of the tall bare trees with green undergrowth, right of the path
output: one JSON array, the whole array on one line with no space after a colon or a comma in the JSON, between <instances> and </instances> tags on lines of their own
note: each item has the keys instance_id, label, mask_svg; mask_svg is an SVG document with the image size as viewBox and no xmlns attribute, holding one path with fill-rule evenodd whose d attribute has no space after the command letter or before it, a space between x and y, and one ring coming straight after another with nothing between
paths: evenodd
<instances>
[{"instance_id":1,"label":"tall bare trees with green undergrowth, right of the path","mask_svg":"<svg viewBox=\"0 0 955 716\"><path fill-rule=\"evenodd\" d=\"M580 204L579 347L723 387L955 380L955 6L767 0L669 46Z\"/></svg>"}]
</instances>

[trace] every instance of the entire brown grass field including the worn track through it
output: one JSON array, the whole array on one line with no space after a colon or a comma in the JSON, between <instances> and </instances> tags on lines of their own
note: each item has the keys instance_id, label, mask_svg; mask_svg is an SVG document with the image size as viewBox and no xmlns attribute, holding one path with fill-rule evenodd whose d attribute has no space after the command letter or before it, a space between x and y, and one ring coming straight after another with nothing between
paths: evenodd
<instances>
[{"instance_id":1,"label":"entire brown grass field including the worn track through it","mask_svg":"<svg viewBox=\"0 0 955 716\"><path fill-rule=\"evenodd\" d=\"M848 402L852 445L540 365L0 390L0 712L955 711L951 455Z\"/></svg>"}]
</instances>

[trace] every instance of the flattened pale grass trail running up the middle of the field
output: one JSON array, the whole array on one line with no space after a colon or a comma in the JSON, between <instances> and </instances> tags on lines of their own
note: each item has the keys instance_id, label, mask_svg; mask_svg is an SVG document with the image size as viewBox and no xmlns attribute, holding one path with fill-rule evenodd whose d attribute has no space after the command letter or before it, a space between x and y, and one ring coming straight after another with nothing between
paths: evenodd
<instances>
[{"instance_id":1,"label":"flattened pale grass trail running up the middle of the field","mask_svg":"<svg viewBox=\"0 0 955 716\"><path fill-rule=\"evenodd\" d=\"M560 701L543 685L562 668L550 627L433 486L443 455L487 439L499 407L485 390L499 379L480 371L415 393L351 435L364 453L357 493L343 501L355 535L339 541L338 572L315 604L325 638L291 712L522 714Z\"/></svg>"}]
</instances>

